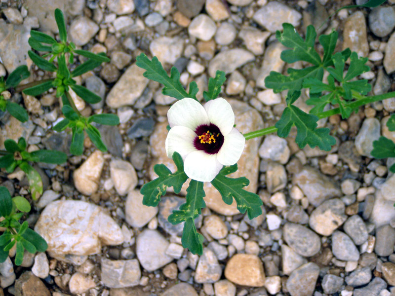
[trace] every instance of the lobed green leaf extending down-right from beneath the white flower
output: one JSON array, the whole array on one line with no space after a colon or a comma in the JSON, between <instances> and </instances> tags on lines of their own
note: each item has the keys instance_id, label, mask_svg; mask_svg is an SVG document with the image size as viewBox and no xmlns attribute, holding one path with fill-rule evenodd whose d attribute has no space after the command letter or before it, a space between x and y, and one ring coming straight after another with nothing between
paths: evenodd
<instances>
[{"instance_id":1,"label":"lobed green leaf extending down-right from beneath the white flower","mask_svg":"<svg viewBox=\"0 0 395 296\"><path fill-rule=\"evenodd\" d=\"M255 193L248 192L243 189L250 182L247 178L229 178L226 175L237 171L237 164L224 167L219 174L211 181L211 184L221 193L222 200L230 205L233 199L236 200L237 210L244 214L247 211L249 219L253 219L262 214L262 200Z\"/></svg>"}]
</instances>

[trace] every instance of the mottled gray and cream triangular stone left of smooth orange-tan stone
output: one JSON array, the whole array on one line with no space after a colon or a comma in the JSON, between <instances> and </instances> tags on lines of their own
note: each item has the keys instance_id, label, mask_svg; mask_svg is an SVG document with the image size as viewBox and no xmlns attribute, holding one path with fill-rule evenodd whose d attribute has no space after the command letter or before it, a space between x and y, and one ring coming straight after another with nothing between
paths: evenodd
<instances>
[{"instance_id":1,"label":"mottled gray and cream triangular stone left of smooth orange-tan stone","mask_svg":"<svg viewBox=\"0 0 395 296\"><path fill-rule=\"evenodd\" d=\"M200 256L196 267L195 282L215 283L222 274L222 267L218 263L213 251L203 248L203 255Z\"/></svg>"}]
</instances>

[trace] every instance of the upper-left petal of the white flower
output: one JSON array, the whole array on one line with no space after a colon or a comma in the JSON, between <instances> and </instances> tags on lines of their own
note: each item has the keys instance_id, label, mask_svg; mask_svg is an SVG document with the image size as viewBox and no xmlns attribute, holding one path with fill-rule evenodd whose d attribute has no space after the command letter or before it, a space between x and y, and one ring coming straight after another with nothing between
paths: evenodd
<instances>
[{"instance_id":1,"label":"upper-left petal of the white flower","mask_svg":"<svg viewBox=\"0 0 395 296\"><path fill-rule=\"evenodd\" d=\"M174 103L167 111L170 127L182 125L195 130L201 124L209 124L208 116L203 106L191 98L184 98Z\"/></svg>"}]
</instances>

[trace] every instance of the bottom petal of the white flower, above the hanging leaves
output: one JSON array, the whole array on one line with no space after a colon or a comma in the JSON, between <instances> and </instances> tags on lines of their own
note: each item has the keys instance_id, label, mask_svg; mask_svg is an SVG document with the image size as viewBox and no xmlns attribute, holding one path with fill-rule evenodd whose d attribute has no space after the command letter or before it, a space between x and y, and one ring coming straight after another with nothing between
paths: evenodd
<instances>
[{"instance_id":1,"label":"bottom petal of the white flower, above the hanging leaves","mask_svg":"<svg viewBox=\"0 0 395 296\"><path fill-rule=\"evenodd\" d=\"M211 182L218 175L223 165L217 160L216 154L207 154L197 150L189 153L184 161L185 174L193 180Z\"/></svg>"}]
</instances>

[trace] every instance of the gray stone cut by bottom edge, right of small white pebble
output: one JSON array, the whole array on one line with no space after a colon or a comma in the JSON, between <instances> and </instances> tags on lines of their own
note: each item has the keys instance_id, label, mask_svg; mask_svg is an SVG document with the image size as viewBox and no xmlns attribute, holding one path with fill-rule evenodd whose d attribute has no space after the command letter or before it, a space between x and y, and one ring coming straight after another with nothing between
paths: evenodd
<instances>
[{"instance_id":1,"label":"gray stone cut by bottom edge, right of small white pebble","mask_svg":"<svg viewBox=\"0 0 395 296\"><path fill-rule=\"evenodd\" d=\"M319 267L309 262L296 268L289 275L286 287L291 296L312 296L316 288Z\"/></svg>"}]
</instances>

